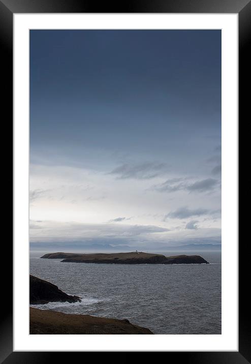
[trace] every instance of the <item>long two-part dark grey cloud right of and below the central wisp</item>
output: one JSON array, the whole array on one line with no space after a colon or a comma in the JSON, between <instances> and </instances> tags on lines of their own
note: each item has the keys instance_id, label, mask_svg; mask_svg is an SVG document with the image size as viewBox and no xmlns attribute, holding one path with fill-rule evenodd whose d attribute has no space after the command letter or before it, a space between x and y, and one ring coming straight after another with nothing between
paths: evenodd
<instances>
[{"instance_id":1,"label":"long two-part dark grey cloud right of and below the central wisp","mask_svg":"<svg viewBox=\"0 0 251 364\"><path fill-rule=\"evenodd\" d=\"M189 192L207 192L211 191L218 184L217 179L206 178L194 183L188 183L185 178L168 179L164 183L152 186L151 189L159 192L175 192L175 191L189 191Z\"/></svg>"}]
</instances>

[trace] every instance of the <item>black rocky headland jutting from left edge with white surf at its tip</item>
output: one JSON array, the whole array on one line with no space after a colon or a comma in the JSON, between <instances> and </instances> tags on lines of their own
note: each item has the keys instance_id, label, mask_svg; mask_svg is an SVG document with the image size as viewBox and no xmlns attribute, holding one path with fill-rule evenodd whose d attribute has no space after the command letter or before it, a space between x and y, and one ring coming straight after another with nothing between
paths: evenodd
<instances>
[{"instance_id":1,"label":"black rocky headland jutting from left edge with white surf at its tip","mask_svg":"<svg viewBox=\"0 0 251 364\"><path fill-rule=\"evenodd\" d=\"M54 284L29 275L30 305L45 305L48 302L81 302L78 296L70 296Z\"/></svg>"}]
</instances>

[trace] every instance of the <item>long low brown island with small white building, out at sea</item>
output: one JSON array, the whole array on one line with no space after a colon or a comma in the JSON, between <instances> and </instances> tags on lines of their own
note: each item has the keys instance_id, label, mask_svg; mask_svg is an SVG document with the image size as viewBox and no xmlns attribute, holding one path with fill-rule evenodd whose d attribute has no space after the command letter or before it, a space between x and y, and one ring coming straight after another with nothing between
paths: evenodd
<instances>
[{"instance_id":1,"label":"long low brown island with small white building, out at sea","mask_svg":"<svg viewBox=\"0 0 251 364\"><path fill-rule=\"evenodd\" d=\"M109 264L209 264L199 255L175 255L130 252L130 253L48 253L43 259L62 259L61 262L109 263Z\"/></svg>"}]
</instances>

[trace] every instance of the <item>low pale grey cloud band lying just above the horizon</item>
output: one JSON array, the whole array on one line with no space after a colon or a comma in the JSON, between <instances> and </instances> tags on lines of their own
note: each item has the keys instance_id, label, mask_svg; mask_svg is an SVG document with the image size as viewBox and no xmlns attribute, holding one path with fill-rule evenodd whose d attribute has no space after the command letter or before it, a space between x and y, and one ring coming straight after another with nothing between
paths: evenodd
<instances>
[{"instance_id":1,"label":"low pale grey cloud band lying just above the horizon","mask_svg":"<svg viewBox=\"0 0 251 364\"><path fill-rule=\"evenodd\" d=\"M55 221L30 221L30 241L33 244L61 244L80 249L85 246L106 245L129 249L165 249L184 244L220 244L221 229L198 228L188 225L184 230L171 230L160 226L126 224L76 224ZM33 246L34 246L33 245Z\"/></svg>"}]
</instances>

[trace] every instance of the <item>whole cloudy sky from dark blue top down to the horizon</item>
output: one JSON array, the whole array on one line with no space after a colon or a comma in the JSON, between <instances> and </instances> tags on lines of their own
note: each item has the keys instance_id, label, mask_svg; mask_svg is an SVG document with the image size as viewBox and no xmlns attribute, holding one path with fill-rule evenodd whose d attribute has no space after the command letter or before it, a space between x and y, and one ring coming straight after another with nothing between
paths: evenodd
<instances>
[{"instance_id":1,"label":"whole cloudy sky from dark blue top down to the horizon","mask_svg":"<svg viewBox=\"0 0 251 364\"><path fill-rule=\"evenodd\" d=\"M221 31L30 31L30 241L221 244Z\"/></svg>"}]
</instances>

